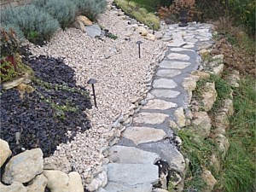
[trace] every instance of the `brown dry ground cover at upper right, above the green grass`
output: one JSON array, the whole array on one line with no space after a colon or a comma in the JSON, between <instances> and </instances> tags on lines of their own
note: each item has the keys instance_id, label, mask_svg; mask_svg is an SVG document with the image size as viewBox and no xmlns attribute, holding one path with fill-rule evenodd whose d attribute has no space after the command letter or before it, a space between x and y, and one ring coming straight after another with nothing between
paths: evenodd
<instances>
[{"instance_id":1,"label":"brown dry ground cover at upper right, above the green grass","mask_svg":"<svg viewBox=\"0 0 256 192\"><path fill-rule=\"evenodd\" d=\"M230 18L220 18L214 23L217 27L217 42L212 55L223 54L227 69L236 69L242 75L256 76L255 41L249 38L240 27L232 25Z\"/></svg>"}]
</instances>

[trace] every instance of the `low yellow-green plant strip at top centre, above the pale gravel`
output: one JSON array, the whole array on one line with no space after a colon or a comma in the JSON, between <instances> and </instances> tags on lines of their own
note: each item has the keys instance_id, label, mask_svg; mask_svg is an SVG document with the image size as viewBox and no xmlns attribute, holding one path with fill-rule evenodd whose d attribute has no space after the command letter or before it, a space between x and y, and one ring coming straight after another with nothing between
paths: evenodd
<instances>
[{"instance_id":1,"label":"low yellow-green plant strip at top centre, above the pale gravel","mask_svg":"<svg viewBox=\"0 0 256 192\"><path fill-rule=\"evenodd\" d=\"M154 3L151 1L139 1L139 0L114 0L120 9L123 9L127 15L135 18L143 24L146 24L152 28L154 24L154 30L160 28L160 20L154 15ZM153 1L154 2L154 1Z\"/></svg>"}]
</instances>

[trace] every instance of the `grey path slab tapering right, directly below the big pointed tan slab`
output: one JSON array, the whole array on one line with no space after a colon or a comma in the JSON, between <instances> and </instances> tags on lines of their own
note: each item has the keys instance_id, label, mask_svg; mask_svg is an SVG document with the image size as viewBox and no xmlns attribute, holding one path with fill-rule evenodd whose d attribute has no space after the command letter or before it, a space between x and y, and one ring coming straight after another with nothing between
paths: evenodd
<instances>
[{"instance_id":1,"label":"grey path slab tapering right, directly below the big pointed tan slab","mask_svg":"<svg viewBox=\"0 0 256 192\"><path fill-rule=\"evenodd\" d=\"M160 155L139 148L114 145L109 149L108 160L113 163L125 164L154 164L160 160Z\"/></svg>"}]
</instances>

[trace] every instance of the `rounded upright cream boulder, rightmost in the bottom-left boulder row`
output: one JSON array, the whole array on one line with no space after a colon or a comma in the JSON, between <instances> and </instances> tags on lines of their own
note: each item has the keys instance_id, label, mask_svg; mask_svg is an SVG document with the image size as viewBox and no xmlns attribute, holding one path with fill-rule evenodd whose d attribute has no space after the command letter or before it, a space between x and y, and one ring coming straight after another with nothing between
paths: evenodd
<instances>
[{"instance_id":1,"label":"rounded upright cream boulder, rightmost in the bottom-left boulder row","mask_svg":"<svg viewBox=\"0 0 256 192\"><path fill-rule=\"evenodd\" d=\"M82 179L78 172L70 172L69 177L69 192L84 192L84 187L82 184Z\"/></svg>"}]
</instances>

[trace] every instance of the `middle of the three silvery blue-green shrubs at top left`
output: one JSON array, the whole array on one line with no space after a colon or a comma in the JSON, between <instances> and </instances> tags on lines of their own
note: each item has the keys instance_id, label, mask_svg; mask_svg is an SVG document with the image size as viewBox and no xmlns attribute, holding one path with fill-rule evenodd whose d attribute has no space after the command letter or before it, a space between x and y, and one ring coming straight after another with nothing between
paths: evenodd
<instances>
[{"instance_id":1,"label":"middle of the three silvery blue-green shrubs at top left","mask_svg":"<svg viewBox=\"0 0 256 192\"><path fill-rule=\"evenodd\" d=\"M62 29L73 22L77 12L76 5L69 0L35 0L33 4L58 20Z\"/></svg>"}]
</instances>

